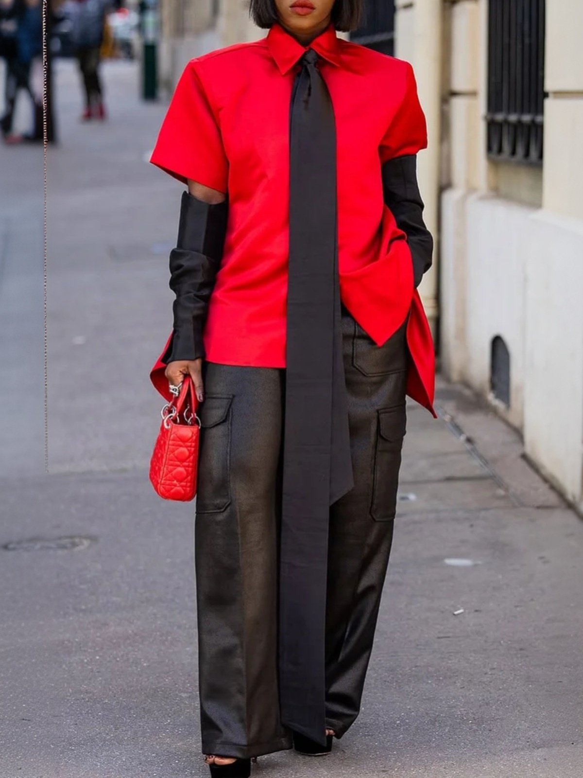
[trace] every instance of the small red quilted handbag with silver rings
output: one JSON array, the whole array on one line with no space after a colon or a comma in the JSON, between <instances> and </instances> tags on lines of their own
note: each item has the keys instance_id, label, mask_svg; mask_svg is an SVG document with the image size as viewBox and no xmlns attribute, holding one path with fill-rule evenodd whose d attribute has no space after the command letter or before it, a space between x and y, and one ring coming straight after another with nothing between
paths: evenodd
<instances>
[{"instance_id":1,"label":"small red quilted handbag with silver rings","mask_svg":"<svg viewBox=\"0 0 583 778\"><path fill-rule=\"evenodd\" d=\"M198 440L201 422L190 376L178 397L162 408L162 424L150 461L150 481L164 499L187 502L197 493Z\"/></svg>"}]
</instances>

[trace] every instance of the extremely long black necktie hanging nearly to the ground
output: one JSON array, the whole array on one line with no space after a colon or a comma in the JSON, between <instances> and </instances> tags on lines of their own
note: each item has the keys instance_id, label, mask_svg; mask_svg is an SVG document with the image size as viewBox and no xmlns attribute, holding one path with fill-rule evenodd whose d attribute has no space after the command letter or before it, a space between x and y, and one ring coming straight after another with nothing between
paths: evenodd
<instances>
[{"instance_id":1,"label":"extremely long black necktie hanging nearly to the ground","mask_svg":"<svg viewBox=\"0 0 583 778\"><path fill-rule=\"evenodd\" d=\"M352 489L340 329L337 146L330 93L312 49L290 107L290 204L280 695L285 726L325 743L330 505Z\"/></svg>"}]
</instances>

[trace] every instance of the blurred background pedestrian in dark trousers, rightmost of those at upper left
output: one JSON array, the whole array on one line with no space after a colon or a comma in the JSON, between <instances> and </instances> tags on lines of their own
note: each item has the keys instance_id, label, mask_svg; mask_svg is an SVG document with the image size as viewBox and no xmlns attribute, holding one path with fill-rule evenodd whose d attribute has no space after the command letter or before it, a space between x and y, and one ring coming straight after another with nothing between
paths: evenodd
<instances>
[{"instance_id":1,"label":"blurred background pedestrian in dark trousers, rightmost of those at upper left","mask_svg":"<svg viewBox=\"0 0 583 778\"><path fill-rule=\"evenodd\" d=\"M72 40L85 90L82 121L106 118L99 63L106 15L111 5L112 0L75 0L72 6Z\"/></svg>"}]
</instances>

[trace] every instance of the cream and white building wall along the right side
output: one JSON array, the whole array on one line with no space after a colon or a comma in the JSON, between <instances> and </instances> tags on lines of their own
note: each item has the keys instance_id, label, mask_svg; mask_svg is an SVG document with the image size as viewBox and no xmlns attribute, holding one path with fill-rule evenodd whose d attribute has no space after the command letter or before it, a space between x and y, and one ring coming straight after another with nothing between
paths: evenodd
<instances>
[{"instance_id":1,"label":"cream and white building wall along the right side","mask_svg":"<svg viewBox=\"0 0 583 778\"><path fill-rule=\"evenodd\" d=\"M445 0L442 370L522 429L525 454L583 510L583 4L546 2L543 167L487 160L487 0ZM510 407L490 394L492 338Z\"/></svg>"}]
</instances>

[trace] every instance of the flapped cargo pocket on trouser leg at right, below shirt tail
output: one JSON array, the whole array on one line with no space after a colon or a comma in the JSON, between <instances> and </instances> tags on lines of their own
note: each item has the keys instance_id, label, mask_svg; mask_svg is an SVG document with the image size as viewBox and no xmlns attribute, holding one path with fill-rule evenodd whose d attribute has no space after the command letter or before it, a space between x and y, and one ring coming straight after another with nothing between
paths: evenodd
<instances>
[{"instance_id":1,"label":"flapped cargo pocket on trouser leg at right, below shirt tail","mask_svg":"<svg viewBox=\"0 0 583 778\"><path fill-rule=\"evenodd\" d=\"M375 521L395 518L401 449L406 428L405 405L383 408L378 412L371 503L371 515Z\"/></svg>"}]
</instances>

